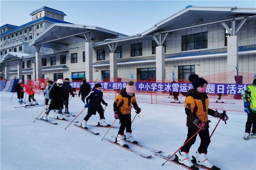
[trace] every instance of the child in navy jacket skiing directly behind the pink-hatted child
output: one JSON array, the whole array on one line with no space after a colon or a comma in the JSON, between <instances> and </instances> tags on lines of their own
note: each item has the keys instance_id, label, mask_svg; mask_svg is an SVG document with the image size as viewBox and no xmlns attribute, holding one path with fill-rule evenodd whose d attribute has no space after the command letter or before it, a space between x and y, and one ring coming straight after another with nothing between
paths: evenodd
<instances>
[{"instance_id":1,"label":"child in navy jacket skiing directly behind the pink-hatted child","mask_svg":"<svg viewBox=\"0 0 256 170\"><path fill-rule=\"evenodd\" d=\"M110 126L110 124L107 124L105 122L104 118L104 109L101 106L101 103L105 106L108 106L108 104L103 100L103 92L101 92L102 85L97 83L95 84L93 91L90 92L90 94L86 97L86 105L84 107L88 108L88 112L86 117L81 123L81 126L83 128L87 129L87 121L88 119L96 114L96 111L100 114L100 122L98 122L98 125L100 126Z\"/></svg>"}]
</instances>

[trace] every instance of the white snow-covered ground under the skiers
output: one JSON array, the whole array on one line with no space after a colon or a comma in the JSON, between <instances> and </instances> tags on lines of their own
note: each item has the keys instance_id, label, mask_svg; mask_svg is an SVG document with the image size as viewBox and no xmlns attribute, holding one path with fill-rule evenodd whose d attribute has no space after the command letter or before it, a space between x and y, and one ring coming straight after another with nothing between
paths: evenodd
<instances>
[{"instance_id":1,"label":"white snow-covered ground under the skiers","mask_svg":"<svg viewBox=\"0 0 256 170\"><path fill-rule=\"evenodd\" d=\"M114 96L106 97L108 107L105 112L106 121L114 121ZM174 163L161 166L164 159L154 153L137 146L131 148L152 155L146 159L135 155L121 147L101 141L107 128L91 127L100 135L92 135L73 124L67 130L69 122L51 120L58 125L36 121L34 118L43 110L43 106L30 109L14 108L19 106L17 95L0 92L1 120L1 170L178 170L183 167ZM38 103L43 103L42 95L35 95ZM140 96L137 97L140 101ZM180 106L140 104L140 118L135 118L132 124L133 136L146 146L163 150L167 156L177 150L187 136L186 114ZM83 103L77 96L70 100L69 111L78 114L83 110ZM51 112L49 117L53 117ZM256 170L256 139L243 140L244 126L247 115L243 112L227 112L227 124L220 122L208 150L208 158L223 170ZM77 120L82 121L84 111ZM133 110L132 117L135 116ZM74 117L67 118L72 120ZM210 117L210 132L217 123L216 118ZM96 124L99 116L92 116L88 124ZM115 126L119 123L116 121ZM111 129L107 135L111 138L118 129ZM195 154L200 144L196 143L190 149L190 156Z\"/></svg>"}]
</instances>

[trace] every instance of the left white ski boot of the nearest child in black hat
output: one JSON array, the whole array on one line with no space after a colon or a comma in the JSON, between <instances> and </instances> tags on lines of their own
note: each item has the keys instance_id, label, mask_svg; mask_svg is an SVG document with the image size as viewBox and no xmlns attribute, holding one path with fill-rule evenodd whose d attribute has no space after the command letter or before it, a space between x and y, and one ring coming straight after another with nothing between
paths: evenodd
<instances>
[{"instance_id":1,"label":"left white ski boot of the nearest child in black hat","mask_svg":"<svg viewBox=\"0 0 256 170\"><path fill-rule=\"evenodd\" d=\"M192 170L199 170L199 168L197 168L194 163L192 163L189 159L189 152L182 152L181 150L179 150L179 154L175 155L174 160L177 163L181 163L189 168L191 168Z\"/></svg>"}]
</instances>

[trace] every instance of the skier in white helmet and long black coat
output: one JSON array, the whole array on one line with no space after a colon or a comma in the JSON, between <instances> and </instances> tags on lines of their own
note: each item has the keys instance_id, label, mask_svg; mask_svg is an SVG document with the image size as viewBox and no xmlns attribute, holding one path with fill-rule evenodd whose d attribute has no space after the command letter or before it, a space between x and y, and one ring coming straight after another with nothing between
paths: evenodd
<instances>
[{"instance_id":1,"label":"skier in white helmet and long black coat","mask_svg":"<svg viewBox=\"0 0 256 170\"><path fill-rule=\"evenodd\" d=\"M49 105L47 111L45 112L45 114L42 117L43 120L45 120L45 121L48 120L47 117L48 117L51 110L59 110L57 118L62 119L62 120L66 120L62 116L63 115L62 114L62 109L63 109L62 98L67 99L67 98L65 98L65 94L63 92L62 85L63 85L63 80L58 79L56 81L56 84L54 84L52 89L50 90L49 98L51 99L51 101L50 101L50 105Z\"/></svg>"}]
</instances>

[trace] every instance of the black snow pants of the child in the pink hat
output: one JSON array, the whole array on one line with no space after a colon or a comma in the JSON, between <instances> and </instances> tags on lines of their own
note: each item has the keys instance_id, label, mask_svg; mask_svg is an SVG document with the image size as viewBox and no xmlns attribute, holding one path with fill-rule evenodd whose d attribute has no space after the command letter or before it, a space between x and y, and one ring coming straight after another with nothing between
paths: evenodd
<instances>
[{"instance_id":1,"label":"black snow pants of the child in the pink hat","mask_svg":"<svg viewBox=\"0 0 256 170\"><path fill-rule=\"evenodd\" d=\"M118 115L120 120L120 128L118 131L118 135L124 135L124 130L126 128L126 132L132 132L132 122L131 122L131 114Z\"/></svg>"}]
</instances>

